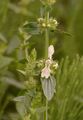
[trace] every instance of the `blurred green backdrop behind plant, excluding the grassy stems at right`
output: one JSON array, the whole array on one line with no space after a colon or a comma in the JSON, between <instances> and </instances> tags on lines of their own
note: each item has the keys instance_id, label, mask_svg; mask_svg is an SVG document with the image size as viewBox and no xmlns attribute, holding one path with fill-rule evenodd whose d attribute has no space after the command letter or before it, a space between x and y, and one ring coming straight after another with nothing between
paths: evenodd
<instances>
[{"instance_id":1,"label":"blurred green backdrop behind plant, excluding the grassy stems at right","mask_svg":"<svg viewBox=\"0 0 83 120\"><path fill-rule=\"evenodd\" d=\"M37 21L41 12L40 0L0 0L0 119L15 120L11 113L15 111L10 99L23 89L22 78L16 71L17 63L22 59L18 50L22 42L19 27L25 21ZM83 54L83 0L57 0L50 16L56 18L59 32L50 34L50 43L55 45L54 58L61 60L76 54ZM67 32L67 33L66 33ZM29 39L29 49L36 48L38 58L44 55L44 36L33 35ZM9 112L8 112L9 111ZM6 113L8 112L8 113Z\"/></svg>"}]
</instances>

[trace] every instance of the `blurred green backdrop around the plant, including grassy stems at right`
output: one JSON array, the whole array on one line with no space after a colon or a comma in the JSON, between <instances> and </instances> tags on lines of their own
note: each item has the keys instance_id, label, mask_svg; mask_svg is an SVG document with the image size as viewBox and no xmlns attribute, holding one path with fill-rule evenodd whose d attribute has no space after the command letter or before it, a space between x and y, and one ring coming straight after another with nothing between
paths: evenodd
<instances>
[{"instance_id":1,"label":"blurred green backdrop around the plant, including grassy stems at right","mask_svg":"<svg viewBox=\"0 0 83 120\"><path fill-rule=\"evenodd\" d=\"M23 68L19 61L24 63L24 54L20 48L23 41L18 29L25 21L36 21L40 17L40 7L39 0L0 0L1 120L20 120L13 101L19 91L24 89L24 78L17 71L18 67ZM51 11L51 16L59 23L60 31L50 34L50 43L56 43L54 58L59 60L60 66L56 76L57 93L49 106L50 120L83 119L82 11L83 0L57 0ZM38 59L43 57L43 36L33 35L29 42L29 52L35 47ZM80 57L76 57L76 54Z\"/></svg>"}]
</instances>

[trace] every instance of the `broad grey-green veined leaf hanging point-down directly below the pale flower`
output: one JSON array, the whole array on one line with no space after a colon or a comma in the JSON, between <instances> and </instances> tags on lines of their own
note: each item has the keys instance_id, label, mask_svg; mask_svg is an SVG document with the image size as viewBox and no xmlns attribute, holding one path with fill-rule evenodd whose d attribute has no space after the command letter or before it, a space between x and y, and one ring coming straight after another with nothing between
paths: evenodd
<instances>
[{"instance_id":1,"label":"broad grey-green veined leaf hanging point-down directly below the pale flower","mask_svg":"<svg viewBox=\"0 0 83 120\"><path fill-rule=\"evenodd\" d=\"M48 79L42 79L41 82L44 95L50 101L55 93L55 79L50 76Z\"/></svg>"}]
</instances>

